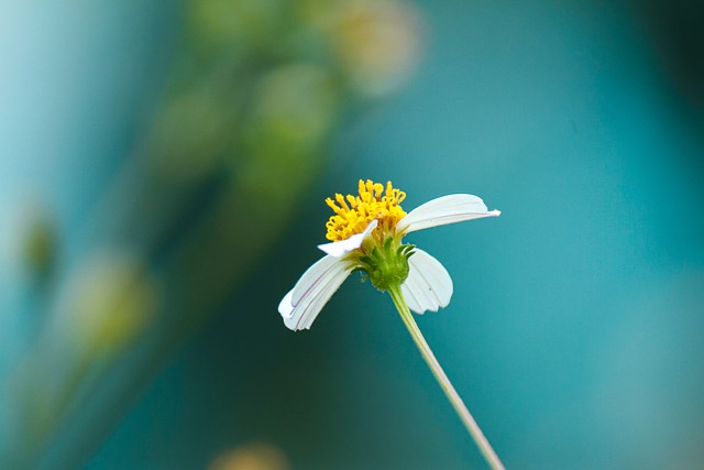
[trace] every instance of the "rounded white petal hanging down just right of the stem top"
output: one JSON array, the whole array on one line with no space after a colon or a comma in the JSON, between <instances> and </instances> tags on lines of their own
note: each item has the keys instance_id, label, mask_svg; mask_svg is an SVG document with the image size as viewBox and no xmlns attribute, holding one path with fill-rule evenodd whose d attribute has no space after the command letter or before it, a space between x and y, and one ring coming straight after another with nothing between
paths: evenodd
<instances>
[{"instance_id":1,"label":"rounded white petal hanging down just right of the stem top","mask_svg":"<svg viewBox=\"0 0 704 470\"><path fill-rule=\"evenodd\" d=\"M438 311L452 298L452 278L438 260L415 249L408 259L408 277L400 286L408 308L417 314Z\"/></svg>"}]
</instances>

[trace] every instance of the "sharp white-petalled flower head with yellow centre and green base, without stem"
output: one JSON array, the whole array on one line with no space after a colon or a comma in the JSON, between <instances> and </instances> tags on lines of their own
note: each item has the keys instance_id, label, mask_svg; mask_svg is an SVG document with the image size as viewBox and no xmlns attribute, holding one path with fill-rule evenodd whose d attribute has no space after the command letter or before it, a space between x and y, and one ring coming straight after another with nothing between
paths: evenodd
<instances>
[{"instance_id":1,"label":"sharp white-petalled flower head with yellow centre and green base, without stem","mask_svg":"<svg viewBox=\"0 0 704 470\"><path fill-rule=\"evenodd\" d=\"M407 233L465 220L496 217L484 201L469 194L442 196L403 211L405 194L371 181L360 181L360 195L336 195L328 205L336 211L327 223L331 243L318 248L327 254L311 265L282 299L278 311L292 330L309 329L314 320L354 270L365 271L372 283L403 282L408 307L422 314L438 311L452 297L452 278L438 260L400 239ZM336 204L337 201L337 204Z\"/></svg>"}]
</instances>

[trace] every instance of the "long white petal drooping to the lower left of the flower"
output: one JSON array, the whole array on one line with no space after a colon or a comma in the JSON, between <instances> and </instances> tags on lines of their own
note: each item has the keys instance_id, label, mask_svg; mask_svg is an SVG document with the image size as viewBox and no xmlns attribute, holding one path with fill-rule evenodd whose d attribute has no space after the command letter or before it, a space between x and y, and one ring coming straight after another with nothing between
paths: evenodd
<instances>
[{"instance_id":1,"label":"long white petal drooping to the lower left of the flower","mask_svg":"<svg viewBox=\"0 0 704 470\"><path fill-rule=\"evenodd\" d=\"M352 272L334 256L323 256L300 276L296 286L278 304L284 324L292 330L309 329L314 320Z\"/></svg>"}]
</instances>

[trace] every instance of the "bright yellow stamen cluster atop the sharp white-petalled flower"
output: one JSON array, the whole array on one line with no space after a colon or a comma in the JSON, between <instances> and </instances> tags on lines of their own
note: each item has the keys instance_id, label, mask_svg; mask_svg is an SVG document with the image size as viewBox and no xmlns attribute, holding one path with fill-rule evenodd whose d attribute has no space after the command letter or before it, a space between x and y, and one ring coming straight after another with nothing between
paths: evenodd
<instances>
[{"instance_id":1,"label":"bright yellow stamen cluster atop the sharp white-petalled flower","mask_svg":"<svg viewBox=\"0 0 704 470\"><path fill-rule=\"evenodd\" d=\"M386 190L381 183L371 179L360 179L359 196L341 194L327 198L326 204L334 211L326 227L326 238L330 241L346 240L355 233L364 231L372 220L378 220L376 230L394 232L396 223L406 217L399 204L406 198L406 193L386 183Z\"/></svg>"}]
</instances>

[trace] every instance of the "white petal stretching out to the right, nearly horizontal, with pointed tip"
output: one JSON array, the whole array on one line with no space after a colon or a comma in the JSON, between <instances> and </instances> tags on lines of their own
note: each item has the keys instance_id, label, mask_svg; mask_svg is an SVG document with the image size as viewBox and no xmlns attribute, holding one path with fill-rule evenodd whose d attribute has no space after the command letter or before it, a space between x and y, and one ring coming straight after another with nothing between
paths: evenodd
<instances>
[{"instance_id":1,"label":"white petal stretching out to the right, nearly horizontal, with pointed tip","mask_svg":"<svg viewBox=\"0 0 704 470\"><path fill-rule=\"evenodd\" d=\"M396 229L410 233L430 227L496 217L499 214L502 214L501 210L487 210L481 197L471 194L451 194L416 207L398 221Z\"/></svg>"}]
</instances>

